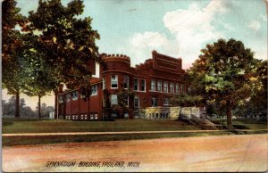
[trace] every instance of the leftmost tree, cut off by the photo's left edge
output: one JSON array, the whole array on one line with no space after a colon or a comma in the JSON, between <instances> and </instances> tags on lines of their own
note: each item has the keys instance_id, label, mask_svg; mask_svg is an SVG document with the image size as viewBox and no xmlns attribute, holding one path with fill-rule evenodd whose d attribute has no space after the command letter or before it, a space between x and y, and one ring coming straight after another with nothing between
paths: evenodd
<instances>
[{"instance_id":1,"label":"leftmost tree, cut off by the photo's left edge","mask_svg":"<svg viewBox=\"0 0 268 173\"><path fill-rule=\"evenodd\" d=\"M8 94L16 96L15 117L20 117L20 94L24 86L21 75L23 41L21 32L15 26L23 27L26 18L19 13L21 9L16 4L14 0L5 0L2 4L2 83Z\"/></svg>"}]
</instances>

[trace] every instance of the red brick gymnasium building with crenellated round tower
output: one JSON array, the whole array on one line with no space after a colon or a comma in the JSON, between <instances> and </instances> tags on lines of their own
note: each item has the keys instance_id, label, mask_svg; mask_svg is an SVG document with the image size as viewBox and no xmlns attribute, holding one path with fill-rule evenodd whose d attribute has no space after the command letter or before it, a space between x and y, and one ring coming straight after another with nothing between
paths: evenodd
<instances>
[{"instance_id":1,"label":"red brick gymnasium building with crenellated round tower","mask_svg":"<svg viewBox=\"0 0 268 173\"><path fill-rule=\"evenodd\" d=\"M130 67L130 58L103 54L105 69L90 63L91 96L85 101L79 90L58 95L58 119L109 119L148 117L169 119L167 111L147 115L146 109L171 107L173 95L187 91L182 60L152 52L152 59ZM95 64L95 65L94 65ZM156 117L157 116L157 117Z\"/></svg>"}]
</instances>

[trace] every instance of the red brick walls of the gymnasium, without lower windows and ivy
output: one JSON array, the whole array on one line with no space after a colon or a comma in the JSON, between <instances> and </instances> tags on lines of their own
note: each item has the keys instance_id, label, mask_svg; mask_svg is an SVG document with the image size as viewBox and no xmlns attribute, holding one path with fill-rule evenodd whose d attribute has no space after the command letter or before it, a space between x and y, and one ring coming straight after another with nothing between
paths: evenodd
<instances>
[{"instance_id":1,"label":"red brick walls of the gymnasium, without lower windows and ivy","mask_svg":"<svg viewBox=\"0 0 268 173\"><path fill-rule=\"evenodd\" d=\"M156 52L153 52L152 54L153 59L149 59L145 63L137 65L135 68L130 67L130 58L125 55L105 55L103 59L106 63L106 69L104 70L101 68L100 78L93 78L91 81L92 85L98 86L98 89L97 95L90 96L89 114L97 113L98 119L103 118L102 78L105 78L105 89L111 95L116 94L118 90L123 89L124 76L129 76L131 90L134 89L134 78L146 79L146 92L136 92L136 95L139 97L140 108L150 107L152 97L157 97L158 106L163 106L163 99L171 98L174 94L151 92L151 80L155 79L155 90L157 90L157 80L161 80L162 85L164 81L169 83L172 82L175 90L175 84L185 84L185 82L182 81L184 70L181 69L181 59L174 59L163 54L157 54ZM163 67L164 63L162 62L170 62L170 64ZM88 65L95 71L95 62L90 62ZM172 69L172 67L174 68ZM111 88L112 75L118 75L118 89ZM169 83L168 88L170 86ZM140 81L139 88L141 88ZM187 90L186 86L184 86L184 89L185 91ZM63 106L63 103L60 103L59 115L63 115L64 113L66 115L88 113L88 101L81 99L80 95L78 100L65 103L65 106ZM65 110L65 112L63 110Z\"/></svg>"}]
</instances>

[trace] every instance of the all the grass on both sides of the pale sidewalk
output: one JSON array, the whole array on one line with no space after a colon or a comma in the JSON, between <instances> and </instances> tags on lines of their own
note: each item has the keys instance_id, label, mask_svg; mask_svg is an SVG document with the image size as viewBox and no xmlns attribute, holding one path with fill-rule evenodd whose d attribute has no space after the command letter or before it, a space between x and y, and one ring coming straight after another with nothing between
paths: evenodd
<instances>
[{"instance_id":1,"label":"all the grass on both sides of the pale sidewalk","mask_svg":"<svg viewBox=\"0 0 268 173\"><path fill-rule=\"evenodd\" d=\"M218 122L220 123L220 121ZM150 134L109 134L109 135L61 135L61 136L3 136L3 146L18 144L54 144L72 142L118 141L152 139L163 137L219 136L234 134L267 133L267 125L255 121L237 121L233 124L240 129L264 129L258 132L181 132ZM265 130L266 129L266 130ZM117 119L115 121L71 121L48 119L3 119L3 134L56 133L56 132L121 132L121 131L172 131L201 130L197 126L172 119Z\"/></svg>"}]
</instances>

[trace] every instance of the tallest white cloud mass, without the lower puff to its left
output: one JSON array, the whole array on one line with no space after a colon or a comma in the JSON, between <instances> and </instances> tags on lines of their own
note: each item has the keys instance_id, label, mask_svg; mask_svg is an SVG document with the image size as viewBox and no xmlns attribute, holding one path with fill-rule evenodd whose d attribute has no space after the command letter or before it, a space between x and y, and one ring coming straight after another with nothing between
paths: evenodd
<instances>
[{"instance_id":1,"label":"tallest white cloud mass, without the lower puff to its left","mask_svg":"<svg viewBox=\"0 0 268 173\"><path fill-rule=\"evenodd\" d=\"M223 1L211 1L203 9L192 4L188 10L179 9L163 16L165 27L175 35L180 45L178 55L182 56L184 62L194 62L200 54L201 46L223 37L222 32L214 28L213 21L227 11L227 4Z\"/></svg>"}]
</instances>

